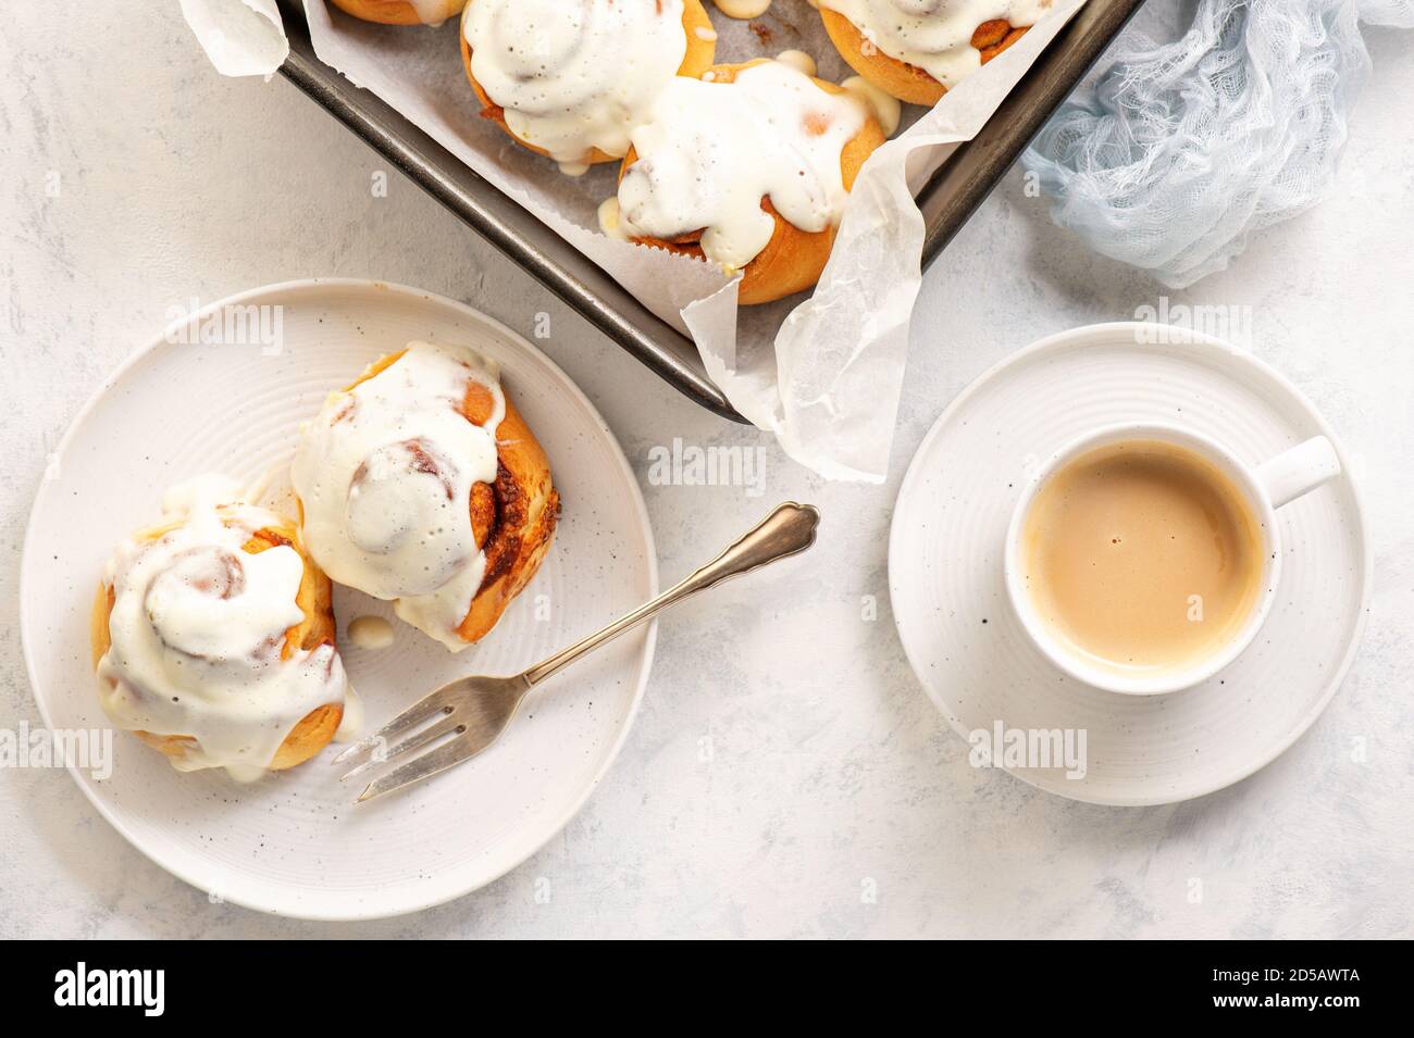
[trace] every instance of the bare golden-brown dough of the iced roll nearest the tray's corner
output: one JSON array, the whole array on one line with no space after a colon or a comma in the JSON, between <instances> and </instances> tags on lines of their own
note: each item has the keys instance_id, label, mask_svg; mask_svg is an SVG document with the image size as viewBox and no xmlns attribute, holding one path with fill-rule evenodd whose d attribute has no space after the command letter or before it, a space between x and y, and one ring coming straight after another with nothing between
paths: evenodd
<instances>
[{"instance_id":1,"label":"bare golden-brown dough of the iced roll nearest the tray's corner","mask_svg":"<svg viewBox=\"0 0 1414 1038\"><path fill-rule=\"evenodd\" d=\"M778 62L769 59L738 65L714 65L704 78L710 79L713 86L734 83L741 72L762 65L781 68ZM796 75L803 73L796 72ZM860 105L836 83L813 76L807 76L807 79L827 95L850 97L854 103ZM864 161L884 143L884 130L880 127L878 120L872 113L865 112L863 105L860 105L860 110L863 117L858 123L858 131L843 143L839 153L840 179L846 193L853 189L854 178L858 175ZM624 199L624 181L638 161L638 150L631 148L619 169L621 205ZM824 264L830 258L830 249L834 246L834 234L839 223L836 216L822 230L802 230L782 216L769 196L762 196L759 205L775 222L775 229L765 247L740 267L742 280L737 291L737 301L741 305L772 302L812 288L820 280ZM624 229L628 237L639 244L655 246L697 258L711 258L703 249L704 227L689 229L672 237L635 233L628 223L624 225Z\"/></svg>"}]
</instances>

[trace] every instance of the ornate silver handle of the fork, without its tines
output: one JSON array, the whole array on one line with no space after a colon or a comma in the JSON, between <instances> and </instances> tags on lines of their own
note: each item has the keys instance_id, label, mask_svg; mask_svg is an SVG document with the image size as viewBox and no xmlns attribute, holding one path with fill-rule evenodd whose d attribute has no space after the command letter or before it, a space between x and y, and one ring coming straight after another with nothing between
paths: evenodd
<instances>
[{"instance_id":1,"label":"ornate silver handle of the fork, without its tines","mask_svg":"<svg viewBox=\"0 0 1414 1038\"><path fill-rule=\"evenodd\" d=\"M585 652L598 648L607 641L612 641L624 631L662 613L669 606L676 606L690 595L714 587L732 576L749 573L778 559L803 552L814 544L814 531L819 525L820 511L813 504L796 504L795 501L778 504L775 511L756 524L755 530L745 534L721 555L689 575L680 583L669 587L632 613L619 617L604 630L591 634L584 641L570 645L527 669L523 675L526 688L539 685L561 667L567 667Z\"/></svg>"}]
</instances>

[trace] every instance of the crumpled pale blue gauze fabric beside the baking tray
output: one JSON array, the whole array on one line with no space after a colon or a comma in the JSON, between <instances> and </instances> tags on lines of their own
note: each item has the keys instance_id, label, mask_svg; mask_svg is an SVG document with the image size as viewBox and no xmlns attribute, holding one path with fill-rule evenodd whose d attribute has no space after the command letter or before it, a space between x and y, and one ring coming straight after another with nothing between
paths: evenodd
<instances>
[{"instance_id":1,"label":"crumpled pale blue gauze fabric beside the baking tray","mask_svg":"<svg viewBox=\"0 0 1414 1038\"><path fill-rule=\"evenodd\" d=\"M1360 23L1414 27L1414 0L1199 0L1181 40L1123 34L1022 162L1090 249L1191 285L1331 188Z\"/></svg>"}]
</instances>

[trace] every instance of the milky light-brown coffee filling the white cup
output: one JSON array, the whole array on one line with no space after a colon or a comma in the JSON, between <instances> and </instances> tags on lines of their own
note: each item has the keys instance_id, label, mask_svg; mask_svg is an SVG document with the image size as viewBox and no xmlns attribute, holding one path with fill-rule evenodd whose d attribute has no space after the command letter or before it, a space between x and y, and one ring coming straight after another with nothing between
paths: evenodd
<instances>
[{"instance_id":1,"label":"milky light-brown coffee filling the white cup","mask_svg":"<svg viewBox=\"0 0 1414 1038\"><path fill-rule=\"evenodd\" d=\"M1080 657L1124 672L1216 652L1261 590L1263 537L1243 491L1205 456L1157 439L1058 469L1019 547L1041 620Z\"/></svg>"}]
</instances>

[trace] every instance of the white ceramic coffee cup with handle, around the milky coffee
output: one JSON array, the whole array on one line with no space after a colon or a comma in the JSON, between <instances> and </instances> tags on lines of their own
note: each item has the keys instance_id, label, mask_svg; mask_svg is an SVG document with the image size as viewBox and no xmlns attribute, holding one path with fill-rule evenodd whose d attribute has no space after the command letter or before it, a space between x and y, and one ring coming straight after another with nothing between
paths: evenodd
<instances>
[{"instance_id":1,"label":"white ceramic coffee cup with handle, around the milky coffee","mask_svg":"<svg viewBox=\"0 0 1414 1038\"><path fill-rule=\"evenodd\" d=\"M1123 668L1103 667L1077 654L1045 623L1027 590L1022 568L1022 528L1036 493L1056 472L1083 453L1111 443L1127 441L1159 441L1188 448L1208 459L1225 473L1243 494L1247 507L1257 521L1261 544L1263 572L1256 603L1250 607L1246 621L1222 645L1198 660L1161 672L1145 671L1127 674ZM1277 530L1275 510L1290 504L1302 494L1315 490L1329 479L1340 475L1340 459L1325 436L1298 443L1261 465L1246 465L1227 448L1216 441L1179 428L1155 422L1133 422L1106 425L1070 441L1031 477L1017 501L1007 530L1005 578L1007 596L1012 612L1021 621L1031 641L1056 667L1087 685L1124 692L1128 695L1161 695L1178 692L1208 681L1227 664L1236 660L1257 636L1281 580L1281 541Z\"/></svg>"}]
</instances>

